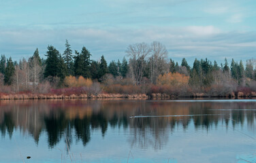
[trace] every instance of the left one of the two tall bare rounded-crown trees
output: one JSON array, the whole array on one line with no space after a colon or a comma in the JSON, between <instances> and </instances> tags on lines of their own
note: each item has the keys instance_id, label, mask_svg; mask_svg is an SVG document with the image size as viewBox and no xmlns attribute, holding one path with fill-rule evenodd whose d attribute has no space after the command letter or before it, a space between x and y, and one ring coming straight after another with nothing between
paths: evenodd
<instances>
[{"instance_id":1,"label":"left one of the two tall bare rounded-crown trees","mask_svg":"<svg viewBox=\"0 0 256 163\"><path fill-rule=\"evenodd\" d=\"M135 43L129 45L125 52L130 57L129 66L132 78L138 85L142 81L142 76L146 69L146 57L151 52L150 46L146 43Z\"/></svg>"}]
</instances>

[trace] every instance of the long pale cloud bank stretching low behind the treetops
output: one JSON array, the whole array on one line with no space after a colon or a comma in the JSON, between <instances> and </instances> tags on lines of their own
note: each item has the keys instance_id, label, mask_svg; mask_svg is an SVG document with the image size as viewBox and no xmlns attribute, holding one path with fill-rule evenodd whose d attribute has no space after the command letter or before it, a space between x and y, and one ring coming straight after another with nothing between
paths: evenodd
<instances>
[{"instance_id":1,"label":"long pale cloud bank stretching low behind the treetops","mask_svg":"<svg viewBox=\"0 0 256 163\"><path fill-rule=\"evenodd\" d=\"M86 46L97 60L101 55L110 60L122 59L129 44L152 41L163 43L169 57L180 61L185 57L191 63L195 58L209 58L222 62L225 57L248 59L256 53L256 33L224 32L215 26L145 27L142 29L0 29L0 54L19 60L29 57L35 48L41 56L52 45L61 53L65 39L72 50ZM243 56L243 57L242 57Z\"/></svg>"}]
</instances>

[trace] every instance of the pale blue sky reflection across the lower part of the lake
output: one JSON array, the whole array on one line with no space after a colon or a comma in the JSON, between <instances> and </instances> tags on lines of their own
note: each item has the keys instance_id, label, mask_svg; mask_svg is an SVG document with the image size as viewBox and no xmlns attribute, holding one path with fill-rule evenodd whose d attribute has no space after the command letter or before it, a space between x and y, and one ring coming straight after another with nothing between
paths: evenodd
<instances>
[{"instance_id":1,"label":"pale blue sky reflection across the lower part of the lake","mask_svg":"<svg viewBox=\"0 0 256 163\"><path fill-rule=\"evenodd\" d=\"M129 162L167 162L168 159L170 162L238 162L239 158L249 158L256 151L256 141L251 138L256 132L247 127L246 120L236 129L231 125L227 128L225 122L212 126L210 130L195 129L193 122L186 129L178 124L172 131L169 127L165 128L169 138L161 149L142 149L138 145L131 147L130 140L135 137L134 128L124 130L116 126L108 128L104 137L101 130L93 130L91 141L85 147L81 141L74 139L70 153L76 162L127 162L128 156ZM150 137L150 134L152 130L146 128L145 135ZM46 132L42 132L38 145L31 136L19 129L14 131L12 140L5 136L0 139L0 144L0 162L22 162L20 153L24 158L31 156L31 160L25 162L61 162L61 151L65 162L71 162L65 150L65 140L49 149Z\"/></svg>"}]
</instances>

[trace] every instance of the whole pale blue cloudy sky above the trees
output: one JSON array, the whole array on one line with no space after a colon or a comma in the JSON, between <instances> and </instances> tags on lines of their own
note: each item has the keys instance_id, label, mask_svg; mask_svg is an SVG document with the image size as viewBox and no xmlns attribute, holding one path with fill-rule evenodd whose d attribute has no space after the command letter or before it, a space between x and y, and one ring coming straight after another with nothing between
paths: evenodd
<instances>
[{"instance_id":1,"label":"whole pale blue cloudy sky above the trees","mask_svg":"<svg viewBox=\"0 0 256 163\"><path fill-rule=\"evenodd\" d=\"M0 0L0 54L41 57L85 46L93 60L122 60L133 43L159 41L168 59L256 58L255 0ZM127 57L127 56L126 56Z\"/></svg>"}]
</instances>

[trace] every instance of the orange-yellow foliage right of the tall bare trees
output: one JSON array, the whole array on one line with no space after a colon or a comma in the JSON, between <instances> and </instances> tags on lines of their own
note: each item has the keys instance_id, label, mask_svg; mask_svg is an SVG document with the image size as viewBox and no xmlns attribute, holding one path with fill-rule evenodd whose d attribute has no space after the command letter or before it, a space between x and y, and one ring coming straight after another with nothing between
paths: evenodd
<instances>
[{"instance_id":1,"label":"orange-yellow foliage right of the tall bare trees","mask_svg":"<svg viewBox=\"0 0 256 163\"><path fill-rule=\"evenodd\" d=\"M189 77L180 73L165 73L159 75L157 85L185 86L189 83Z\"/></svg>"}]
</instances>

